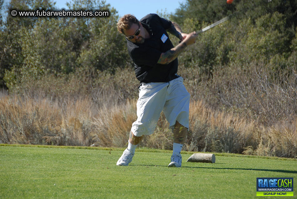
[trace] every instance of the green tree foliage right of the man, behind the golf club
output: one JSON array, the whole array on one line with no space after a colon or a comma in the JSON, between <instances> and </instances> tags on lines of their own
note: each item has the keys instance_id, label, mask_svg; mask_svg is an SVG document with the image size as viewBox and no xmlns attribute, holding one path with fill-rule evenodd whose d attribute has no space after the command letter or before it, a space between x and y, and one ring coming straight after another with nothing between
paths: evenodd
<instances>
[{"instance_id":1,"label":"green tree foliage right of the man, behind the golf club","mask_svg":"<svg viewBox=\"0 0 297 199\"><path fill-rule=\"evenodd\" d=\"M220 0L187 0L171 16L183 25L184 32L232 15L229 21L202 33L179 60L208 78L219 65L240 67L256 61L273 65L272 71L287 68L296 37L296 10L294 0L236 0L230 5Z\"/></svg>"}]
</instances>

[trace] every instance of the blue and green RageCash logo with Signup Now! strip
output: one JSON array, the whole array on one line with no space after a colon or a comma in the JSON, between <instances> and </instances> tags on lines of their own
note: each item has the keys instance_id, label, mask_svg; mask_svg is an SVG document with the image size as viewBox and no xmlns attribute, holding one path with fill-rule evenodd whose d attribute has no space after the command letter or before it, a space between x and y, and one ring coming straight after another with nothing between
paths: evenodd
<instances>
[{"instance_id":1,"label":"blue and green RageCash logo with Signup Now! strip","mask_svg":"<svg viewBox=\"0 0 297 199\"><path fill-rule=\"evenodd\" d=\"M293 178L257 178L257 196L293 196Z\"/></svg>"}]
</instances>

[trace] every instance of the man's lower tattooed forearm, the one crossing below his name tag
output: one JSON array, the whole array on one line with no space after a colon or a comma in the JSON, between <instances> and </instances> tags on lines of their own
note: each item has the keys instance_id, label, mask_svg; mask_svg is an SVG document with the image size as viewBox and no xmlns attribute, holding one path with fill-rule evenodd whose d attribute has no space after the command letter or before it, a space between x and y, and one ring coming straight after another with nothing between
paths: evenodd
<instances>
[{"instance_id":1,"label":"man's lower tattooed forearm, the one crossing below his name tag","mask_svg":"<svg viewBox=\"0 0 297 199\"><path fill-rule=\"evenodd\" d=\"M166 51L165 53L162 53L158 60L158 64L169 64L176 59L176 57L183 51L183 49L186 48L186 46L187 44L185 42L181 42L176 47Z\"/></svg>"}]
</instances>

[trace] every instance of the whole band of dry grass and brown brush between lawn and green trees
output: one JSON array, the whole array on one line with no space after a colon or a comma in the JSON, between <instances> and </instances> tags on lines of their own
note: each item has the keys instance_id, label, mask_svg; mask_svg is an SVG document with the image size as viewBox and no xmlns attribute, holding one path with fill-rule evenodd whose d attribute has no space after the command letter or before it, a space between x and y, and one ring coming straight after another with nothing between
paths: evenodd
<instances>
[{"instance_id":1,"label":"whole band of dry grass and brown brush between lawn and green trees","mask_svg":"<svg viewBox=\"0 0 297 199\"><path fill-rule=\"evenodd\" d=\"M297 66L275 71L279 79L269 67L221 66L211 79L180 67L192 99L184 149L296 158ZM136 120L133 69L78 75L0 92L0 143L125 146ZM172 149L172 140L161 114L141 146Z\"/></svg>"}]
</instances>

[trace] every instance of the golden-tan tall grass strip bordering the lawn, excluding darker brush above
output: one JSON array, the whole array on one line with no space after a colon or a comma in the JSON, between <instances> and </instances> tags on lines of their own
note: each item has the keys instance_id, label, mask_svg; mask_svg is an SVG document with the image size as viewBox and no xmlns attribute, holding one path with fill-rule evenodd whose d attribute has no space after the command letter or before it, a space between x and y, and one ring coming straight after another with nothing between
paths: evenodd
<instances>
[{"instance_id":1,"label":"golden-tan tall grass strip bordering the lawn, excluding darker brush above","mask_svg":"<svg viewBox=\"0 0 297 199\"><path fill-rule=\"evenodd\" d=\"M136 120L136 100L98 106L91 99L68 100L64 107L49 99L0 98L0 143L75 146L127 144ZM108 103L109 104L109 103ZM296 158L297 119L264 127L202 100L190 104L190 129L184 150L245 153ZM141 146L172 149L172 132L163 114L156 130Z\"/></svg>"}]
</instances>

